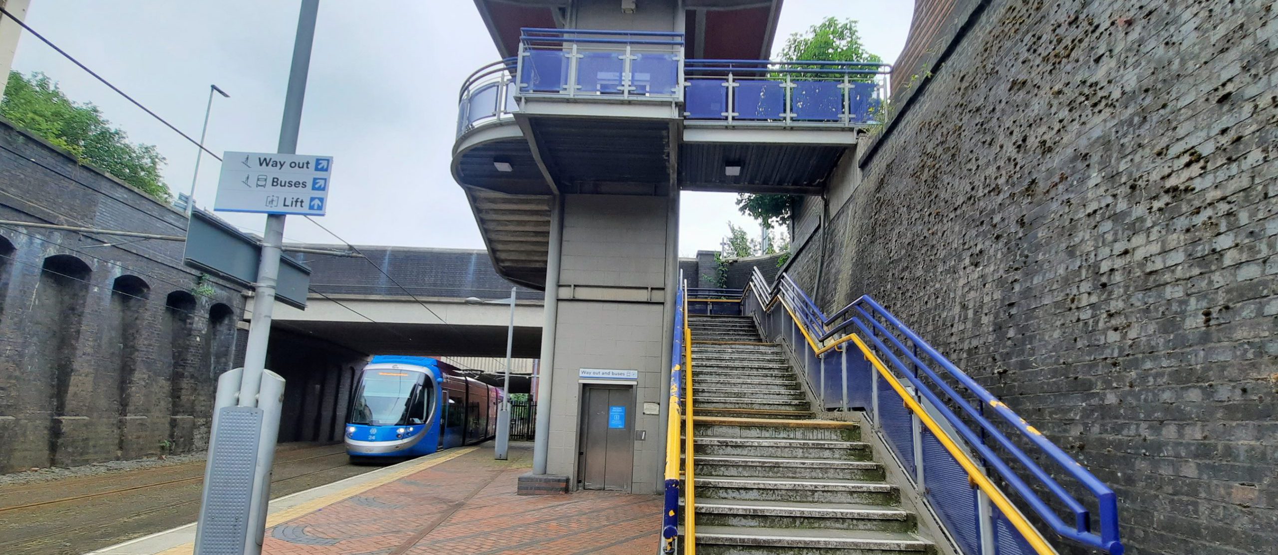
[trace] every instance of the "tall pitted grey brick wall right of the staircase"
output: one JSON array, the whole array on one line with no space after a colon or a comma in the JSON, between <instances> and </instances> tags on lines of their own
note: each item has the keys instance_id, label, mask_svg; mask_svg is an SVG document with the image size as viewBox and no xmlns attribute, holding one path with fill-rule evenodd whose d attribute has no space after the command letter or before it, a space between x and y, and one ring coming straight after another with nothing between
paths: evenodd
<instances>
[{"instance_id":1,"label":"tall pitted grey brick wall right of the staircase","mask_svg":"<svg viewBox=\"0 0 1278 555\"><path fill-rule=\"evenodd\" d=\"M875 296L1091 468L1128 554L1273 552L1278 6L985 4L831 207L822 304Z\"/></svg>"}]
</instances>

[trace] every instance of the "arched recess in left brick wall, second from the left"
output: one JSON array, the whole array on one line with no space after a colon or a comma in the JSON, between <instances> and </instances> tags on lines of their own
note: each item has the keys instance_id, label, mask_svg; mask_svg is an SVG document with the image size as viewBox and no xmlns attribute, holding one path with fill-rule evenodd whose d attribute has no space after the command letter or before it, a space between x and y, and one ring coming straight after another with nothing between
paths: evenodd
<instances>
[{"instance_id":1,"label":"arched recess in left brick wall, second from the left","mask_svg":"<svg viewBox=\"0 0 1278 555\"><path fill-rule=\"evenodd\" d=\"M37 310L33 311L32 320L37 325L33 334L36 352L32 353L32 379L47 379L52 383L49 404L54 407L55 416L68 413L66 399L75 371L75 352L91 273L92 269L84 260L69 254L45 258L41 267L40 285L36 287Z\"/></svg>"}]
</instances>

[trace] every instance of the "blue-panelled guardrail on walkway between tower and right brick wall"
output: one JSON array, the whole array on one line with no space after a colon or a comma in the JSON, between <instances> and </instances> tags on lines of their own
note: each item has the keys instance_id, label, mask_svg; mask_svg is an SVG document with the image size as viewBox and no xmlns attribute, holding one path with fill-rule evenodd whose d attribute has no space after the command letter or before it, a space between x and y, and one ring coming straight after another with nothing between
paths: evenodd
<instances>
[{"instance_id":1,"label":"blue-panelled guardrail on walkway between tower and right brick wall","mask_svg":"<svg viewBox=\"0 0 1278 555\"><path fill-rule=\"evenodd\" d=\"M870 61L688 60L684 117L734 125L877 124L891 69Z\"/></svg>"}]
</instances>

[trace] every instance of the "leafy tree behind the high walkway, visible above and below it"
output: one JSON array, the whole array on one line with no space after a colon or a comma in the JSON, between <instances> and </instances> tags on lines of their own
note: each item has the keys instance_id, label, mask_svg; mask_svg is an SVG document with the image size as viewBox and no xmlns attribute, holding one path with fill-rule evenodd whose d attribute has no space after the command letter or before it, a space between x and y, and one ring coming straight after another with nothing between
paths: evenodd
<instances>
[{"instance_id":1,"label":"leafy tree behind the high walkway, visible above and below it","mask_svg":"<svg viewBox=\"0 0 1278 555\"><path fill-rule=\"evenodd\" d=\"M781 60L883 61L882 57L870 54L861 45L861 36L856 31L855 20L840 22L832 17L809 27L805 33L794 33L786 38L786 45L781 47ZM865 75L854 79L868 80L872 78L872 75ZM736 198L736 207L743 214L758 219L759 223L769 228L790 225L794 203L794 195L780 194L743 193Z\"/></svg>"}]
</instances>

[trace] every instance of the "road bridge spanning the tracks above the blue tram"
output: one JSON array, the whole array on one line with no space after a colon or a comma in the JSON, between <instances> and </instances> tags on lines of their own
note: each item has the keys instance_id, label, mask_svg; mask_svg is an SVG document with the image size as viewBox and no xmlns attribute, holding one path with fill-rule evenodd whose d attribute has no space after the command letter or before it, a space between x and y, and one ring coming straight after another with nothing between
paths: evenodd
<instances>
[{"instance_id":1,"label":"road bridge spanning the tracks above the blue tram","mask_svg":"<svg viewBox=\"0 0 1278 555\"><path fill-rule=\"evenodd\" d=\"M312 292L307 309L277 306L272 327L369 355L505 355L510 324L505 301L511 285L493 272L486 251L358 249L368 258L308 254ZM501 304L466 304L466 299ZM245 309L244 319L252 318L252 309ZM542 319L542 293L520 287L516 359L538 356Z\"/></svg>"}]
</instances>

